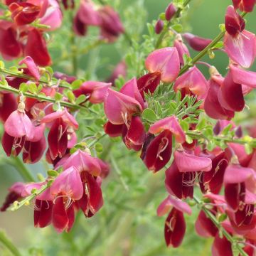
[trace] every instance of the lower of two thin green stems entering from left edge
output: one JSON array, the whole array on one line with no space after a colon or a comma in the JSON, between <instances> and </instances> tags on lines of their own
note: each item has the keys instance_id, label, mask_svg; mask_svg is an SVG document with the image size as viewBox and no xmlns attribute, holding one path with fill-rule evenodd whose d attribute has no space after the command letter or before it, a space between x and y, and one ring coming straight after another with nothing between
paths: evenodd
<instances>
[{"instance_id":1,"label":"lower of two thin green stems entering from left edge","mask_svg":"<svg viewBox=\"0 0 256 256\"><path fill-rule=\"evenodd\" d=\"M18 89L15 89L14 87L11 87L11 86L8 86L8 85L0 85L0 90L5 90L6 92L13 92L16 95L20 94ZM34 94L30 93L30 92L23 92L23 95L26 96L26 97L30 97L32 99L39 100L39 101L46 101L46 102L53 102L53 103L56 102L55 99L53 99L51 97L43 96L43 95L34 95ZM69 108L75 109L75 110L78 110L81 107L85 107L85 106L82 106L82 105L73 104L71 102L65 102L63 100L60 100L59 102L60 102L61 106L69 107Z\"/></svg>"}]
</instances>

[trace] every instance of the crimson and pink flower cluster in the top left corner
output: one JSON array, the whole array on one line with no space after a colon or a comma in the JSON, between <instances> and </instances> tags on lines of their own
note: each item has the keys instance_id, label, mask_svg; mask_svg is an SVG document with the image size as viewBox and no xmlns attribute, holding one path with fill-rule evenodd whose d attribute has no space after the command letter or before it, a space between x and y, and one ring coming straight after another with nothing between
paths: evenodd
<instances>
[{"instance_id":1,"label":"crimson and pink flower cluster in the top left corner","mask_svg":"<svg viewBox=\"0 0 256 256\"><path fill-rule=\"evenodd\" d=\"M0 53L6 60L31 56L37 65L52 63L43 37L45 31L53 31L62 23L60 6L51 1L9 1L9 11L1 11Z\"/></svg>"}]
</instances>

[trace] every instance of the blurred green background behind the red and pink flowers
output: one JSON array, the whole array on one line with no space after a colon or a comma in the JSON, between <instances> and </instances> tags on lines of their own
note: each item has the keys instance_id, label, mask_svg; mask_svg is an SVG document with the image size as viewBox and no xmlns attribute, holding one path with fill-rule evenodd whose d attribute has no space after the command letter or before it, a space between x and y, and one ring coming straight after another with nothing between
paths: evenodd
<instances>
[{"instance_id":1,"label":"blurred green background behind the red and pink flowers","mask_svg":"<svg viewBox=\"0 0 256 256\"><path fill-rule=\"evenodd\" d=\"M95 1L96 2L96 1ZM146 23L158 18L159 14L166 9L170 3L167 0L119 0L107 1L112 6L118 6L124 20L134 6L139 6L134 11L132 26L143 27L147 33ZM188 31L198 36L213 38L219 33L218 24L223 23L225 9L231 4L231 0L191 0L191 9L186 16ZM132 15L132 14L131 14ZM256 32L255 14L249 14L247 19L247 30ZM68 21L66 21L68 22ZM68 44L62 40L65 29L60 29L60 37L54 36L53 43L50 43L50 52L53 60L58 58L62 50L70 50ZM129 31L129 28L127 28ZM63 32L61 32L63 31ZM92 31L94 33L94 31ZM55 41L54 41L55 40ZM80 44L86 44L90 36L80 38ZM140 39L142 40L142 39ZM122 60L122 39L121 43L104 45L92 50L89 54L82 55L79 75L90 79L105 80L114 65ZM61 46L61 47L59 47ZM191 51L191 55L195 53ZM215 53L215 59L206 61L215 65L218 70L225 74L228 65L228 58L222 53ZM53 70L61 70L66 73L70 71L70 60L61 63L54 63ZM206 72L206 69L204 70ZM109 149L107 149L109 150ZM156 208L159 202L166 197L163 174L154 176L146 171L137 154L127 153L122 143L114 144L111 155L117 158L117 164L122 172L122 179L128 185L127 191L120 177L113 170L113 174L104 181L103 192L105 206L100 213L92 219L85 219L80 216L79 223L75 225L75 231L70 234L57 235L53 228L33 228L33 210L22 208L17 212L6 212L0 214L0 227L13 240L14 244L21 247L24 255L210 255L211 240L199 238L193 230L193 223L196 220L198 209L193 209L193 216L187 218L188 227L186 238L180 248L166 249L164 244L164 217L156 217ZM4 164L4 157L0 160L0 201L4 201L6 190L15 181L22 181L16 170ZM33 174L41 171L43 164L29 166ZM155 184L154 184L155 183ZM131 184L131 186L129 186ZM149 184L156 185L156 191L147 191ZM143 198L147 203L144 203ZM127 225L124 225L127 223ZM108 225L109 224L109 225ZM106 228L107 227L107 228ZM124 235L124 238L122 235ZM0 255L9 255L1 248Z\"/></svg>"}]
</instances>

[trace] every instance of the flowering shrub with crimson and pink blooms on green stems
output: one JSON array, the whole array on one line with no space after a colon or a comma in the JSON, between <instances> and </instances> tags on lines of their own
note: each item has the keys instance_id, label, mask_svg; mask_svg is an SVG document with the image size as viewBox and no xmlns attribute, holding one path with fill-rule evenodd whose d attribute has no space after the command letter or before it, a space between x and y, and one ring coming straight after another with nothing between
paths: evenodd
<instances>
[{"instance_id":1,"label":"flowering shrub with crimson and pink blooms on green stems","mask_svg":"<svg viewBox=\"0 0 256 256\"><path fill-rule=\"evenodd\" d=\"M132 207L142 211L164 188L155 211L165 216L159 218L164 236L158 239L167 247L182 246L186 215L195 214L198 206L194 228L199 236L212 238L212 255L255 255L256 135L254 124L240 126L236 117L238 112L253 114L247 101L256 87L256 73L250 70L256 36L246 30L245 16L252 15L256 2L230 2L213 39L182 27L191 2L171 2L157 21L148 23L149 34L141 42L129 33L133 17L121 21L117 9L105 1L5 0L0 5L1 154L23 178L9 188L1 212L32 206L36 228L52 225L55 232L67 233L70 255L82 254L68 237L78 221L105 214L106 223L118 222L107 238L110 254L105 255L116 255L119 239L135 224L130 213L119 221L124 213L119 216L115 208L129 211L125 201L132 200ZM68 53L58 38L66 23L71 29ZM119 41L127 50L112 75L94 79L95 50ZM84 48L81 42L86 42ZM202 60L205 55L215 58L219 51L228 60L223 74L211 60ZM82 72L79 57L88 52L92 68ZM65 68L53 71L55 62L68 65L67 74ZM126 157L119 165L117 159ZM136 164L141 171L133 173L133 161L139 158L144 167ZM38 162L47 170L36 178L26 166ZM140 197L134 196L140 188L124 178L127 168L131 184L134 180L144 186ZM117 182L113 172L121 184L118 201L105 193ZM104 223L96 224L100 227L91 230L85 253L103 232ZM0 241L20 255L4 233ZM161 255L161 247L149 255ZM129 255L131 248L124 250ZM29 253L41 255L38 250Z\"/></svg>"}]
</instances>

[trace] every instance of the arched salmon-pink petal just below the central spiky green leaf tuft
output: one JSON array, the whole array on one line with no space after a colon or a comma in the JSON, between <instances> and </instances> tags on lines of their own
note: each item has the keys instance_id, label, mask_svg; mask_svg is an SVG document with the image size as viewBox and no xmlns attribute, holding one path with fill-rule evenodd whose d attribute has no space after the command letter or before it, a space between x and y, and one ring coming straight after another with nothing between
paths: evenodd
<instances>
[{"instance_id":1,"label":"arched salmon-pink petal just below the central spiky green leaf tuft","mask_svg":"<svg viewBox=\"0 0 256 256\"><path fill-rule=\"evenodd\" d=\"M168 130L174 134L176 142L183 143L186 141L186 134L183 132L180 124L178 124L177 118L175 116L161 119L152 124L149 128L149 132L151 134L158 134L164 130Z\"/></svg>"}]
</instances>

